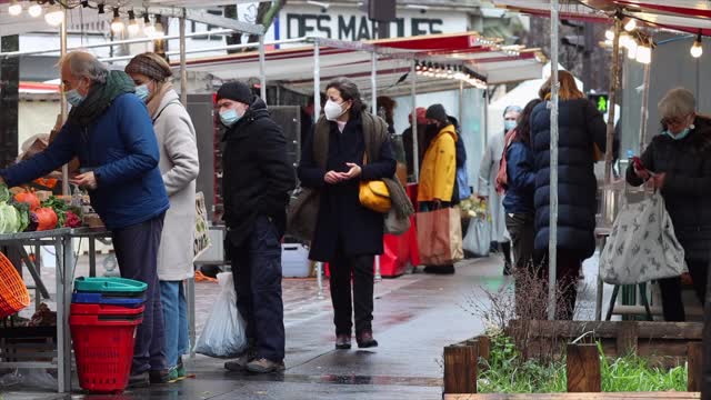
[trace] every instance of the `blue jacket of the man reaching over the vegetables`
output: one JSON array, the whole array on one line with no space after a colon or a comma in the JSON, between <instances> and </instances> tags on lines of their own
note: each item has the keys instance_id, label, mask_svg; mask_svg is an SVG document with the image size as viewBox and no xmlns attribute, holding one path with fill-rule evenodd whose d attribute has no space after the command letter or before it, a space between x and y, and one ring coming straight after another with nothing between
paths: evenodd
<instances>
[{"instance_id":1,"label":"blue jacket of the man reaching over the vegetables","mask_svg":"<svg viewBox=\"0 0 711 400\"><path fill-rule=\"evenodd\" d=\"M146 104L134 94L118 97L87 128L64 124L47 150L0 171L0 176L9 186L21 184L48 174L74 157L97 177L98 189L89 194L107 228L130 227L168 210L153 124Z\"/></svg>"}]
</instances>

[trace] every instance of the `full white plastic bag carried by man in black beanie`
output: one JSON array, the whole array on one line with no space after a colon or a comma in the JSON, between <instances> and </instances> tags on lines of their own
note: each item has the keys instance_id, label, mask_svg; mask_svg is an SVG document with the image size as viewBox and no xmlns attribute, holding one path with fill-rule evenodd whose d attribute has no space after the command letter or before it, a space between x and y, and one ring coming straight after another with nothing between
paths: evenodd
<instances>
[{"instance_id":1,"label":"full white plastic bag carried by man in black beanie","mask_svg":"<svg viewBox=\"0 0 711 400\"><path fill-rule=\"evenodd\" d=\"M220 296L196 343L196 352L217 358L238 357L247 346L244 320L237 310L232 272L218 273Z\"/></svg>"}]
</instances>

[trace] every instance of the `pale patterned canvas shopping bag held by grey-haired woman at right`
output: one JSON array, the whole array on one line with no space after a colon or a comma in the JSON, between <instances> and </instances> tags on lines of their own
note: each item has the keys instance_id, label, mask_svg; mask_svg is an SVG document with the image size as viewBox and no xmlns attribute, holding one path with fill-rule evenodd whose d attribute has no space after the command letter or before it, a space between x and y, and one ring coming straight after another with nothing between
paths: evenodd
<instances>
[{"instance_id":1,"label":"pale patterned canvas shopping bag held by grey-haired woman at right","mask_svg":"<svg viewBox=\"0 0 711 400\"><path fill-rule=\"evenodd\" d=\"M684 249L661 194L620 211L600 254L600 278L605 283L637 284L679 277L685 268Z\"/></svg>"}]
</instances>

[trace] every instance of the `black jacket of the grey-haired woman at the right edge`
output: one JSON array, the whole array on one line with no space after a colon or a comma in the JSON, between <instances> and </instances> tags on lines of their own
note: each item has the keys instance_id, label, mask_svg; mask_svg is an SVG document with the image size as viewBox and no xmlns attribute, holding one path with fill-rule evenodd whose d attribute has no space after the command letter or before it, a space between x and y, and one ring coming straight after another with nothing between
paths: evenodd
<instances>
[{"instance_id":1,"label":"black jacket of the grey-haired woman at the right edge","mask_svg":"<svg viewBox=\"0 0 711 400\"><path fill-rule=\"evenodd\" d=\"M661 193L687 259L705 261L711 251L711 120L697 117L694 127L681 140L654 137L641 158L648 170L667 174ZM632 168L627 181L642 184Z\"/></svg>"}]
</instances>

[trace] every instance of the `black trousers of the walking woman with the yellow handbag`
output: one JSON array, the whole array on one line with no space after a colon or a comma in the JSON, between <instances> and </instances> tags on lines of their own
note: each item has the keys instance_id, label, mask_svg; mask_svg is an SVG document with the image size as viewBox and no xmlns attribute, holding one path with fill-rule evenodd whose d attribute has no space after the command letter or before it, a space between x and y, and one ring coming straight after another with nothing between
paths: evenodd
<instances>
[{"instance_id":1,"label":"black trousers of the walking woman with the yellow handbag","mask_svg":"<svg viewBox=\"0 0 711 400\"><path fill-rule=\"evenodd\" d=\"M373 256L348 257L339 246L329 263L331 301L336 334L351 334L356 313L356 334L372 331L373 321ZM351 304L351 277L353 300Z\"/></svg>"}]
</instances>

